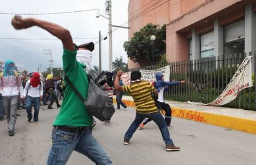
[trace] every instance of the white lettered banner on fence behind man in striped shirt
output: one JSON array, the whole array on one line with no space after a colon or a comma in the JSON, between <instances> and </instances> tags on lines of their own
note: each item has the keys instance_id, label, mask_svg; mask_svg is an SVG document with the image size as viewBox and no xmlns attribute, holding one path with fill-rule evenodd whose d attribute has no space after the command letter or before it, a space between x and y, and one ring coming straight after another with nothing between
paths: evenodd
<instances>
[{"instance_id":1,"label":"white lettered banner on fence behind man in striped shirt","mask_svg":"<svg viewBox=\"0 0 256 165\"><path fill-rule=\"evenodd\" d=\"M156 81L155 74L160 73L163 74L165 81L169 81L170 79L170 66L164 66L163 68L155 69L155 70L145 70L140 69L141 73L141 79L144 81L149 81L150 83L153 83ZM130 84L130 71L122 74L121 76L122 83L124 83L124 86Z\"/></svg>"}]
</instances>

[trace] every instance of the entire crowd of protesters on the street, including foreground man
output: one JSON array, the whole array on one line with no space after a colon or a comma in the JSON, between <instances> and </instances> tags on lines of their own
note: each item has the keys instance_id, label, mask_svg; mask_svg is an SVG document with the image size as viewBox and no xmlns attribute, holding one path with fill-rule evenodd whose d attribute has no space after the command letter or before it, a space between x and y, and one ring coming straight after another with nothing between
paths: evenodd
<instances>
[{"instance_id":1,"label":"entire crowd of protesters on the street, including foreground man","mask_svg":"<svg viewBox=\"0 0 256 165\"><path fill-rule=\"evenodd\" d=\"M52 35L62 41L65 77L68 76L74 86L85 94L83 97L86 99L89 87L88 76L86 74L88 74L88 70L91 67L91 51L94 50L94 43L76 45L73 43L70 32L67 29L44 20L22 19L20 16L14 16L11 23L14 29L27 29L38 26L52 33ZM18 72L14 61L0 61L0 65L3 65L3 63L4 71L1 73L0 81L0 120L4 120L5 114L9 136L14 136L14 128L18 115L17 109L26 109L27 123L32 122L32 120L37 123L39 122L41 102L43 105L48 105L47 109L50 110L54 109L52 105L55 102L57 108L61 108L55 122L53 122L53 144L48 155L47 164L65 164L73 150L84 154L96 164L112 164L109 155L99 145L94 136L91 135L91 128L96 124L93 116L89 114L83 102L78 99L75 91L68 84L63 87L62 77L58 78L57 76L48 74L46 78L43 78L42 74L38 72ZM106 76L107 78L104 81L103 87L111 99L116 94L117 109L120 109L120 105L124 107L123 110L127 109L127 105L122 102L123 92L129 93L137 106L135 119L124 135L124 145L130 143L135 130L141 124L145 125L142 121L148 117L149 120L153 120L158 125L165 143L165 150L180 150L180 147L173 144L168 131L168 126L171 128L171 115L164 119L158 111L155 101L152 99L152 92L155 96L158 96L159 92L160 97L157 101L158 103L164 104L163 87L167 85L171 86L173 83L168 84L162 82L163 78L159 79L163 85L161 84L159 86L158 91L158 88L155 88L156 86L154 87L149 82L140 79L141 74L139 71L132 71L131 84L128 86L123 86L122 84L122 71L117 72L115 81L113 81L113 73L107 72ZM81 83L84 85L81 86ZM61 98L63 98L62 105L58 102L58 99ZM34 117L32 115L33 106ZM163 110L171 113L170 106ZM111 118L105 120L104 124L111 124L110 120ZM74 137L77 138L74 139Z\"/></svg>"}]
</instances>

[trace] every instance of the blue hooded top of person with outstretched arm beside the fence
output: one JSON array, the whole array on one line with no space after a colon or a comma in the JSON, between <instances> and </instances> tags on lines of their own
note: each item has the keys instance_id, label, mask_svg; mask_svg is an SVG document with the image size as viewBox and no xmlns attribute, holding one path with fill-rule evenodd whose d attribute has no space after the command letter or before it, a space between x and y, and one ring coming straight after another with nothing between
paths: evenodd
<instances>
[{"instance_id":1,"label":"blue hooded top of person with outstretched arm beside the fence","mask_svg":"<svg viewBox=\"0 0 256 165\"><path fill-rule=\"evenodd\" d=\"M171 86L175 86L180 84L180 81L162 81L163 74L157 73L155 74L155 79L157 79L157 82L155 82L155 89L157 89L157 92L160 92L160 89L163 87L165 88L164 91L168 91Z\"/></svg>"}]
</instances>

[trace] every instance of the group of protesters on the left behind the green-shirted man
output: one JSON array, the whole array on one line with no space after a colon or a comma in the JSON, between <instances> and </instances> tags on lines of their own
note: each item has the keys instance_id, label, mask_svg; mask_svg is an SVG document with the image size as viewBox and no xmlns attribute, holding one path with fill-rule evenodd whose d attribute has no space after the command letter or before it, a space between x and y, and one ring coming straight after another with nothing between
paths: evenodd
<instances>
[{"instance_id":1,"label":"group of protesters on the left behind the green-shirted man","mask_svg":"<svg viewBox=\"0 0 256 165\"><path fill-rule=\"evenodd\" d=\"M55 76L52 79L51 74L44 78L42 73L19 71L11 60L0 61L0 65L4 65L0 71L0 120L4 120L6 115L9 136L14 136L15 123L19 116L17 110L26 109L27 122L30 123L33 119L37 123L40 105L48 105L48 109L53 109L52 104L56 102L57 108L61 107L58 96L63 98L62 78ZM50 86L51 83L53 86Z\"/></svg>"}]
</instances>

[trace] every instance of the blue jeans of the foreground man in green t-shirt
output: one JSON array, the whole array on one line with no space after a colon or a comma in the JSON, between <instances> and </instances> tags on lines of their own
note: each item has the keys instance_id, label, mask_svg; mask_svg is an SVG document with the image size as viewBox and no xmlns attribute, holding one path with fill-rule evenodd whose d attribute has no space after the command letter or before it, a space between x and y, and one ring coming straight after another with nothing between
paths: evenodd
<instances>
[{"instance_id":1,"label":"blue jeans of the foreground man in green t-shirt","mask_svg":"<svg viewBox=\"0 0 256 165\"><path fill-rule=\"evenodd\" d=\"M95 164L112 164L109 155L91 135L87 127L78 133L64 132L53 128L52 148L47 164L66 164L73 150L84 154Z\"/></svg>"}]
</instances>

